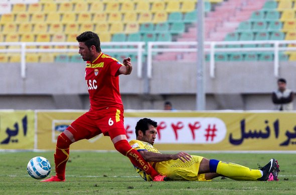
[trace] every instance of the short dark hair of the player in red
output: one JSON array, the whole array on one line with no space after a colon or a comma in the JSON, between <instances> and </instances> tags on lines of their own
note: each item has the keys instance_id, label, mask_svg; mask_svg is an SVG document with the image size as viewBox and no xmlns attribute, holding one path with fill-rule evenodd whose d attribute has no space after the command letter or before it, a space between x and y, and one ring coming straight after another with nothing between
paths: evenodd
<instances>
[{"instance_id":1,"label":"short dark hair of the player in red","mask_svg":"<svg viewBox=\"0 0 296 195\"><path fill-rule=\"evenodd\" d=\"M90 48L92 45L96 47L97 52L101 52L101 41L99 36L92 31L82 32L76 37L78 42L84 42L84 44Z\"/></svg>"}]
</instances>

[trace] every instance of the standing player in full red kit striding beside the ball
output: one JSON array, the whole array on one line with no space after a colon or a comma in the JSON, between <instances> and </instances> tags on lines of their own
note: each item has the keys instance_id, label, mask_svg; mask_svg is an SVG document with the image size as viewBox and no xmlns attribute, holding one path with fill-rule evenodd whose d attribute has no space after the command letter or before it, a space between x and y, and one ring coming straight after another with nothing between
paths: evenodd
<instances>
[{"instance_id":1,"label":"standing player in full red kit striding beside the ball","mask_svg":"<svg viewBox=\"0 0 296 195\"><path fill-rule=\"evenodd\" d=\"M126 139L118 75L131 73L130 57L123 59L122 64L102 53L99 36L94 32L83 32L76 39L79 42L79 54L86 61L85 81L88 86L90 109L58 136L54 154L56 175L42 182L65 181L70 144L100 133L110 136L115 149L126 155L137 167L152 175L154 181L163 181L166 176L156 172Z\"/></svg>"}]
</instances>

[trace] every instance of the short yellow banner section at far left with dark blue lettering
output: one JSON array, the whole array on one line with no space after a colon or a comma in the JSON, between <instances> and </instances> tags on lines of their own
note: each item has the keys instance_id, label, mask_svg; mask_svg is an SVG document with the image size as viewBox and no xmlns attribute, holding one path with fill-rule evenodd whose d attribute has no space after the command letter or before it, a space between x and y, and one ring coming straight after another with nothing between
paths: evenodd
<instances>
[{"instance_id":1,"label":"short yellow banner section at far left with dark blue lettering","mask_svg":"<svg viewBox=\"0 0 296 195\"><path fill-rule=\"evenodd\" d=\"M33 149L33 110L0 111L0 149Z\"/></svg>"}]
</instances>

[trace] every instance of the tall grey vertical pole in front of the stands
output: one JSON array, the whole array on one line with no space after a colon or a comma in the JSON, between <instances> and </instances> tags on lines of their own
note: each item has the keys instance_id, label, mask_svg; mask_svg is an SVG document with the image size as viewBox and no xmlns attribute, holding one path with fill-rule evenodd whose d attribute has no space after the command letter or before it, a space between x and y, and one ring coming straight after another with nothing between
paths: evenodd
<instances>
[{"instance_id":1,"label":"tall grey vertical pole in front of the stands","mask_svg":"<svg viewBox=\"0 0 296 195\"><path fill-rule=\"evenodd\" d=\"M197 92L196 109L205 110L205 65L204 65L204 0L197 1Z\"/></svg>"}]
</instances>

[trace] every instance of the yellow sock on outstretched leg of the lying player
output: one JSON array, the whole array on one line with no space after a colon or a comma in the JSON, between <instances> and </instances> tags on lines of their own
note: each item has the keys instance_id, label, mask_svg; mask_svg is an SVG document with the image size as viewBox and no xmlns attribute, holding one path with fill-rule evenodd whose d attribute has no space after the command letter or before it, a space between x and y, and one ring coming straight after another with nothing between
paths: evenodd
<instances>
[{"instance_id":1,"label":"yellow sock on outstretched leg of the lying player","mask_svg":"<svg viewBox=\"0 0 296 195\"><path fill-rule=\"evenodd\" d=\"M262 176L259 169L223 161L219 161L216 172L235 180L257 180Z\"/></svg>"}]
</instances>

